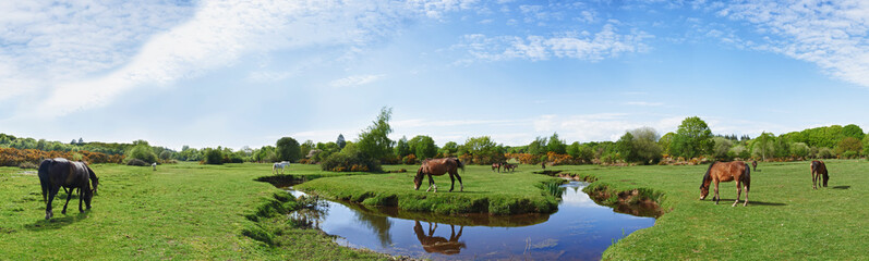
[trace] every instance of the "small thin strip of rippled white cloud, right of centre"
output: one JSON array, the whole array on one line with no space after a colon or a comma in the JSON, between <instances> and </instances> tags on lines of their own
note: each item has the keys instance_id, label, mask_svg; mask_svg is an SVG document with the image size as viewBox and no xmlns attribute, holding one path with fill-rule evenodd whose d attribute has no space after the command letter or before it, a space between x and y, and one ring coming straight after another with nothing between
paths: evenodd
<instances>
[{"instance_id":1,"label":"small thin strip of rippled white cloud, right of centre","mask_svg":"<svg viewBox=\"0 0 869 261\"><path fill-rule=\"evenodd\" d=\"M462 42L454 48L466 49L472 58L483 61L514 59L541 61L564 58L595 62L623 53L647 51L649 47L643 41L651 37L636 30L619 35L615 25L606 24L595 34L583 30L550 36L529 35L524 38L471 34L464 35Z\"/></svg>"}]
</instances>

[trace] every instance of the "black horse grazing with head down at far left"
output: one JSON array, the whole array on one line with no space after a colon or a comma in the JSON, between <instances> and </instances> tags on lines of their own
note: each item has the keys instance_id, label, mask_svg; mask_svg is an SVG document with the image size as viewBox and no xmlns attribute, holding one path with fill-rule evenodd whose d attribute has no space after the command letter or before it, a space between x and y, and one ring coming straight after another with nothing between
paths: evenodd
<instances>
[{"instance_id":1,"label":"black horse grazing with head down at far left","mask_svg":"<svg viewBox=\"0 0 869 261\"><path fill-rule=\"evenodd\" d=\"M48 220L55 216L51 203L61 187L64 190L70 189L67 191L67 203L63 204L61 213L67 213L67 206L76 188L79 189L79 211L84 212L82 201L85 202L87 209L90 209L90 199L97 191L99 179L94 170L90 170L84 162L56 158L39 163L39 184L43 186L43 200L46 202L46 220ZM94 186L93 189L90 189L90 185Z\"/></svg>"}]
</instances>

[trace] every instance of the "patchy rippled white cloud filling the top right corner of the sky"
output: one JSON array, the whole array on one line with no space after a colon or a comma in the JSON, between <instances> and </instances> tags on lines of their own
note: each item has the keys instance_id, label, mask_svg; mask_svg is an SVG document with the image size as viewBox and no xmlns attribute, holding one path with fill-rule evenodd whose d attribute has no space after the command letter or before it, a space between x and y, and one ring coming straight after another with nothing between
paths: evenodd
<instances>
[{"instance_id":1,"label":"patchy rippled white cloud filling the top right corner of the sky","mask_svg":"<svg viewBox=\"0 0 869 261\"><path fill-rule=\"evenodd\" d=\"M835 77L869 87L869 1L743 1L717 14L749 22L760 35L728 41L812 62Z\"/></svg>"}]
</instances>

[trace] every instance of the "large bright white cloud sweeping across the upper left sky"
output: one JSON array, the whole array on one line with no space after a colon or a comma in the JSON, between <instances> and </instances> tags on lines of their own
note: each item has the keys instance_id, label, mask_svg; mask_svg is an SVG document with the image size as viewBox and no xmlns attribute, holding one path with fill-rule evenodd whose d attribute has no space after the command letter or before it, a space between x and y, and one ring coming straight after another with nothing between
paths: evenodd
<instances>
[{"instance_id":1,"label":"large bright white cloud sweeping across the upper left sky","mask_svg":"<svg viewBox=\"0 0 869 261\"><path fill-rule=\"evenodd\" d=\"M43 79L44 75L36 73L25 74L24 77L24 79L39 79L36 80L37 85L48 88L47 99L37 104L36 110L24 111L57 116L108 104L120 95L142 86L168 85L178 79L196 77L205 72L231 65L251 53L312 47L345 47L350 51L358 50L354 47L364 47L373 40L395 34L406 20L420 14L437 17L444 12L468 9L473 3L474 1L459 0L410 2L210 0L202 1L195 7L195 14L192 17L171 28L159 22L161 15L166 15L164 10L145 8L147 15L134 15L128 20L158 22L131 25L134 28L142 27L149 30L130 33L110 26L119 21L128 21L124 20L128 17L124 16L126 13L114 11L117 7L111 4L109 4L111 9L104 8L106 9L104 11L118 12L117 15L106 20L94 20L92 16L96 17L97 14L87 16L85 14L90 12L89 9L75 4L60 12L51 12L53 7L49 7L47 10L49 12L46 14L44 13L46 10L43 10L45 7L27 12L31 7L4 2L0 3L0 10L4 11L2 13L16 15L0 18L0 25L3 25L0 27L1 39L17 44L40 42L44 37L48 37L50 40L45 45L50 48L24 47L22 50L13 50L15 55L11 61L7 61L10 60L10 54L5 53L11 51L7 51L9 48L3 48L0 52L0 59L3 60L0 61L2 64L12 64L7 65L12 72L43 72L31 67L52 66L57 72L61 72L60 75L68 75L62 79L50 77ZM123 9L138 10L135 4ZM99 13L97 11L94 12ZM35 15L29 16L29 14ZM67 18L69 21L64 17L69 17ZM34 21L38 22L37 26L32 26L36 23ZM58 26L51 27L52 24ZM41 35L21 33L29 32L32 28L41 28L46 32ZM168 30L153 37L146 34L165 29ZM58 33L63 30L69 33ZM89 32L98 33L87 34ZM67 39L65 36L73 37ZM140 41L123 40L131 36ZM147 38L146 36L150 38L144 45L141 47L136 45ZM77 41L88 37L94 39ZM5 46L5 42L2 44ZM76 45L81 46L81 50L64 51L64 47L77 47ZM37 55L25 59L31 53ZM55 66L51 62L45 65L41 62L45 59L61 65ZM8 75L0 77L3 77L0 78L0 84L4 84L0 85L2 86L0 90L5 94L21 94L25 91L24 88L31 86L27 80L10 79ZM286 75L253 74L249 78L267 80L281 77ZM378 77L370 75L353 79L355 84L365 84ZM0 98L9 96L3 95Z\"/></svg>"}]
</instances>

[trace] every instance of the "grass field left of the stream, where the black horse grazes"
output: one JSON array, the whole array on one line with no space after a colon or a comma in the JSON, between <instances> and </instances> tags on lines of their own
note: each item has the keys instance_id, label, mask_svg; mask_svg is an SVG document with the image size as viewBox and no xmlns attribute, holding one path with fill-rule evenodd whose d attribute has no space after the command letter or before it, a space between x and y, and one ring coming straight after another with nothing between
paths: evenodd
<instances>
[{"instance_id":1,"label":"grass field left of the stream, where the black horse grazes","mask_svg":"<svg viewBox=\"0 0 869 261\"><path fill-rule=\"evenodd\" d=\"M339 247L329 236L302 229L275 213L292 207L287 195L254 178L269 164L221 166L181 163L150 167L94 165L100 178L93 209L79 213L77 199L45 221L39 181L33 170L0 167L0 260L348 260L387 259ZM329 176L315 165L292 165L294 175ZM74 196L77 198L77 195ZM289 201L289 202L288 202ZM270 212L269 212L270 211ZM251 216L260 215L258 222ZM265 232L271 246L242 234Z\"/></svg>"}]
</instances>

